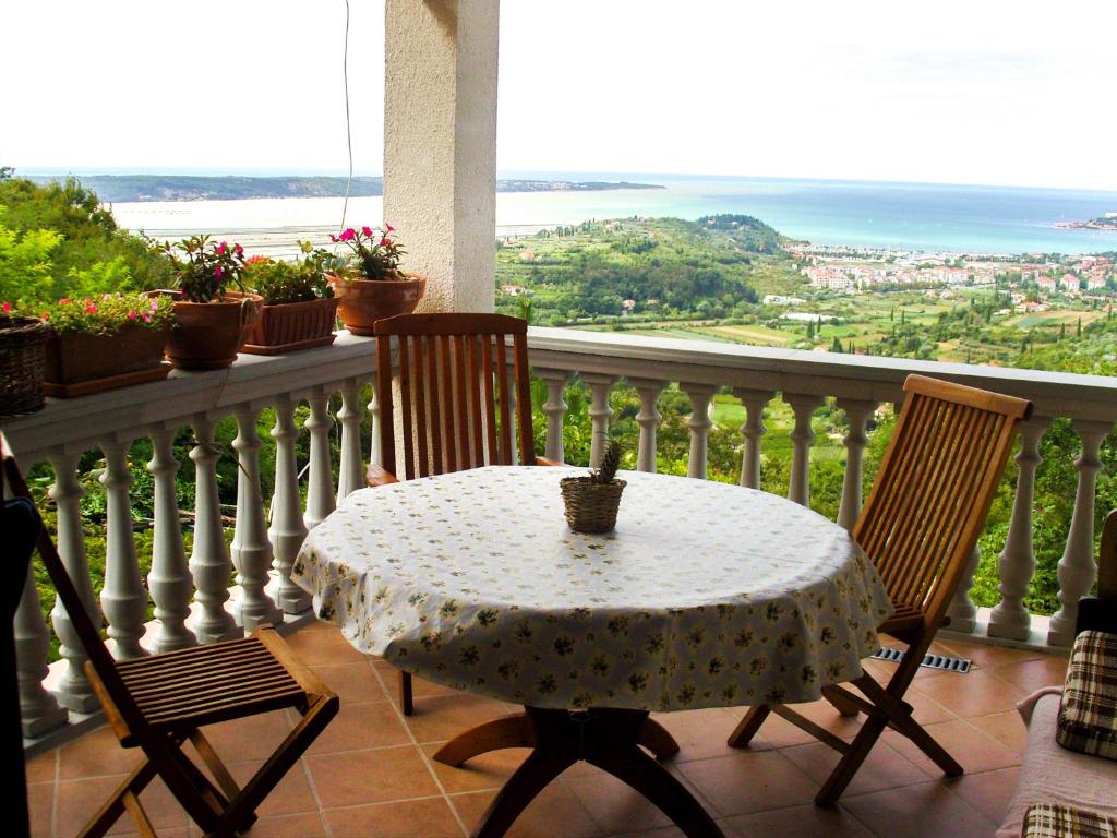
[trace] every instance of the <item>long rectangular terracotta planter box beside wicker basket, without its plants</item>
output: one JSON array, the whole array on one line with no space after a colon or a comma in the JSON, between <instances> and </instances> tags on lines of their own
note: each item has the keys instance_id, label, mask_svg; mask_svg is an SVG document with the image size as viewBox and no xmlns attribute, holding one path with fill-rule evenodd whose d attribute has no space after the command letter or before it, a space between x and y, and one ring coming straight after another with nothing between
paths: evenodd
<instances>
[{"instance_id":1,"label":"long rectangular terracotta planter box beside wicker basket, without its plants","mask_svg":"<svg viewBox=\"0 0 1117 838\"><path fill-rule=\"evenodd\" d=\"M113 334L50 333L44 389L47 396L68 399L166 378L163 363L166 328L139 324Z\"/></svg>"}]
</instances>

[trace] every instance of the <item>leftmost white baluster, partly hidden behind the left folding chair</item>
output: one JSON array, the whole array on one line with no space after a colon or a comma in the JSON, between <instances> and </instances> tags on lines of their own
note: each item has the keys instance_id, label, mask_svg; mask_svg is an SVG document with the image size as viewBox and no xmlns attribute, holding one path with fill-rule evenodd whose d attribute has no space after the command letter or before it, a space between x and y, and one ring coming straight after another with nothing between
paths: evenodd
<instances>
[{"instance_id":1,"label":"leftmost white baluster, partly hidden behind the left folding chair","mask_svg":"<svg viewBox=\"0 0 1117 838\"><path fill-rule=\"evenodd\" d=\"M16 679L19 684L19 715L25 736L41 736L66 724L67 713L42 686L47 677L47 651L50 649L47 623L35 589L35 573L23 577L23 593L12 626L16 637ZM6 720L6 724L10 720Z\"/></svg>"}]
</instances>

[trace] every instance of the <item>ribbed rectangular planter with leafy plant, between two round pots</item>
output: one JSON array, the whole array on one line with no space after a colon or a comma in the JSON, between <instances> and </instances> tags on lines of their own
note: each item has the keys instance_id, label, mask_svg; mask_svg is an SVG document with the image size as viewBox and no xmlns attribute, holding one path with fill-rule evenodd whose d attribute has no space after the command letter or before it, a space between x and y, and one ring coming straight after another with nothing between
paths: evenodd
<instances>
[{"instance_id":1,"label":"ribbed rectangular planter with leafy plant, between two round pots","mask_svg":"<svg viewBox=\"0 0 1117 838\"><path fill-rule=\"evenodd\" d=\"M244 282L264 298L260 318L245 342L244 351L279 355L334 342L337 298L325 276L332 258L299 241L303 257L280 261L254 256L245 264Z\"/></svg>"}]
</instances>

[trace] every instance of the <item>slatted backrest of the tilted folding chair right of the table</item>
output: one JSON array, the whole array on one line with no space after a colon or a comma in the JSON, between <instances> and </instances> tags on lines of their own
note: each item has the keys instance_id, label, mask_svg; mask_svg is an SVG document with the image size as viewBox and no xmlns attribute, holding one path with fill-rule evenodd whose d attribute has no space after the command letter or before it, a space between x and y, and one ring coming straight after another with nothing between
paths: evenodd
<instances>
[{"instance_id":1,"label":"slatted backrest of the tilted folding chair right of the table","mask_svg":"<svg viewBox=\"0 0 1117 838\"><path fill-rule=\"evenodd\" d=\"M853 540L897 611L937 628L977 543L1031 402L909 375L896 431Z\"/></svg>"}]
</instances>

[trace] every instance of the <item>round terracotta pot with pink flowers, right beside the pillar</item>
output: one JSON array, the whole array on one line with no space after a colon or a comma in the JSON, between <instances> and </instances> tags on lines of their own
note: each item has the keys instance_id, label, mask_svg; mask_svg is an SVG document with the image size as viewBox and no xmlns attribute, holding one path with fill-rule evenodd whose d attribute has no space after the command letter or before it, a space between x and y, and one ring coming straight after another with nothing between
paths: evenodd
<instances>
[{"instance_id":1,"label":"round terracotta pot with pink flowers, right beside the pillar","mask_svg":"<svg viewBox=\"0 0 1117 838\"><path fill-rule=\"evenodd\" d=\"M392 238L395 228L350 227L330 240L344 244L352 251L345 264L331 276L337 293L337 314L353 334L372 334L378 320L410 314L427 291L427 279L400 269L404 255Z\"/></svg>"}]
</instances>

